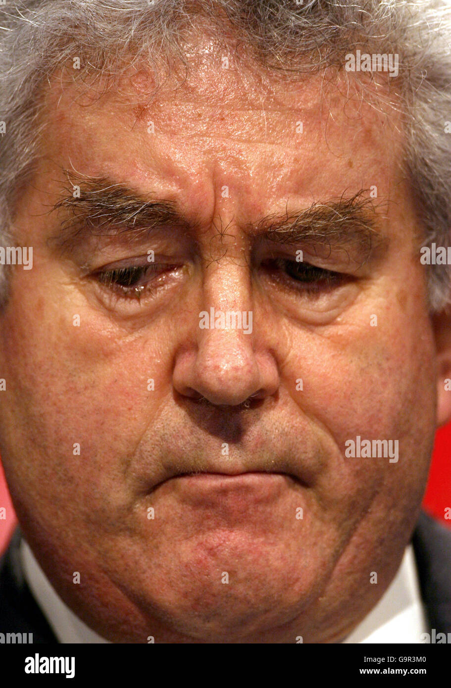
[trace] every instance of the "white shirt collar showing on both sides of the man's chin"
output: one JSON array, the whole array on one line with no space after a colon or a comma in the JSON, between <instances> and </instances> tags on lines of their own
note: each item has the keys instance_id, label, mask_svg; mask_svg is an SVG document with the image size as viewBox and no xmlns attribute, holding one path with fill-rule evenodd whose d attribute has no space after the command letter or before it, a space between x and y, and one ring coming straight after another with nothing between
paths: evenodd
<instances>
[{"instance_id":1,"label":"white shirt collar showing on both sides of the man's chin","mask_svg":"<svg viewBox=\"0 0 451 688\"><path fill-rule=\"evenodd\" d=\"M109 643L88 627L56 594L25 539L21 540L25 579L60 643ZM343 643L420 643L427 630L412 545L377 605Z\"/></svg>"}]
</instances>

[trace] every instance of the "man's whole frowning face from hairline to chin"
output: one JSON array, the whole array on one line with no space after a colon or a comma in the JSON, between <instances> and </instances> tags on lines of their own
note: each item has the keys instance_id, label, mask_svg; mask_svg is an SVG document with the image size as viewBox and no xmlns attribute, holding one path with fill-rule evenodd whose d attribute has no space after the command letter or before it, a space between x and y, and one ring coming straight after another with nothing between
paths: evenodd
<instances>
[{"instance_id":1,"label":"man's whole frowning face from hairline to chin","mask_svg":"<svg viewBox=\"0 0 451 688\"><path fill-rule=\"evenodd\" d=\"M399 566L436 420L399 121L343 75L324 89L208 50L191 63L147 109L150 72L89 105L58 78L46 94L15 224L33 268L1 316L6 476L50 581L105 638L339 641ZM62 244L63 170L78 214L101 178L180 222L132 237L121 215ZM363 222L324 210L361 189L372 250ZM313 203L300 237L261 222ZM397 441L399 459L346 455L357 436Z\"/></svg>"}]
</instances>

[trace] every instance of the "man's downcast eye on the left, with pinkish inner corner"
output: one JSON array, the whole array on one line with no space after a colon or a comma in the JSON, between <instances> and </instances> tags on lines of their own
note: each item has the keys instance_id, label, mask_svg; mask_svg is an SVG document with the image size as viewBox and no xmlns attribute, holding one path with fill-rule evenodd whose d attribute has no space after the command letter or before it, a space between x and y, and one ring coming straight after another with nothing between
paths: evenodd
<instances>
[{"instance_id":1,"label":"man's downcast eye on the left, with pinkish inner corner","mask_svg":"<svg viewBox=\"0 0 451 688\"><path fill-rule=\"evenodd\" d=\"M143 292L150 288L150 283L169 270L174 270L174 265L146 264L143 266L124 266L123 268L111 268L100 270L94 277L101 286L116 292L120 297L140 299Z\"/></svg>"}]
</instances>

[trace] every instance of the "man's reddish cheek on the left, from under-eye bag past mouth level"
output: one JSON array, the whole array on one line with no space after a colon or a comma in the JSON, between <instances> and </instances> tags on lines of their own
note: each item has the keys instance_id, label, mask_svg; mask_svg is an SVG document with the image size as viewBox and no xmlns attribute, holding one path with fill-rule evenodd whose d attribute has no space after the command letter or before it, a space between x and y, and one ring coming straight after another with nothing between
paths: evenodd
<instances>
[{"instance_id":1,"label":"man's reddish cheek on the left, from under-eye bag past mouth level","mask_svg":"<svg viewBox=\"0 0 451 688\"><path fill-rule=\"evenodd\" d=\"M28 494L27 510L57 512L70 495L79 508L114 510L127 502L130 455L162 403L170 357L160 338L121 337L86 308L52 299L8 312L0 437L12 491Z\"/></svg>"}]
</instances>

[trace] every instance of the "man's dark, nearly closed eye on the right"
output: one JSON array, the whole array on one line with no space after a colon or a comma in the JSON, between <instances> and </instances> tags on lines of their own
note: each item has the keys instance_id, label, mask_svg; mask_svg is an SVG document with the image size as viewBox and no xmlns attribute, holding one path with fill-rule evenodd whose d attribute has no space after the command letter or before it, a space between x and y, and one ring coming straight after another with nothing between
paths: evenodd
<instances>
[{"instance_id":1,"label":"man's dark, nearly closed eye on the right","mask_svg":"<svg viewBox=\"0 0 451 688\"><path fill-rule=\"evenodd\" d=\"M293 282L295 288L315 294L342 286L352 279L350 275L344 275L333 270L318 268L304 261L297 262L284 258L275 258L264 261L265 270L271 272L275 279L284 280L285 283Z\"/></svg>"}]
</instances>

